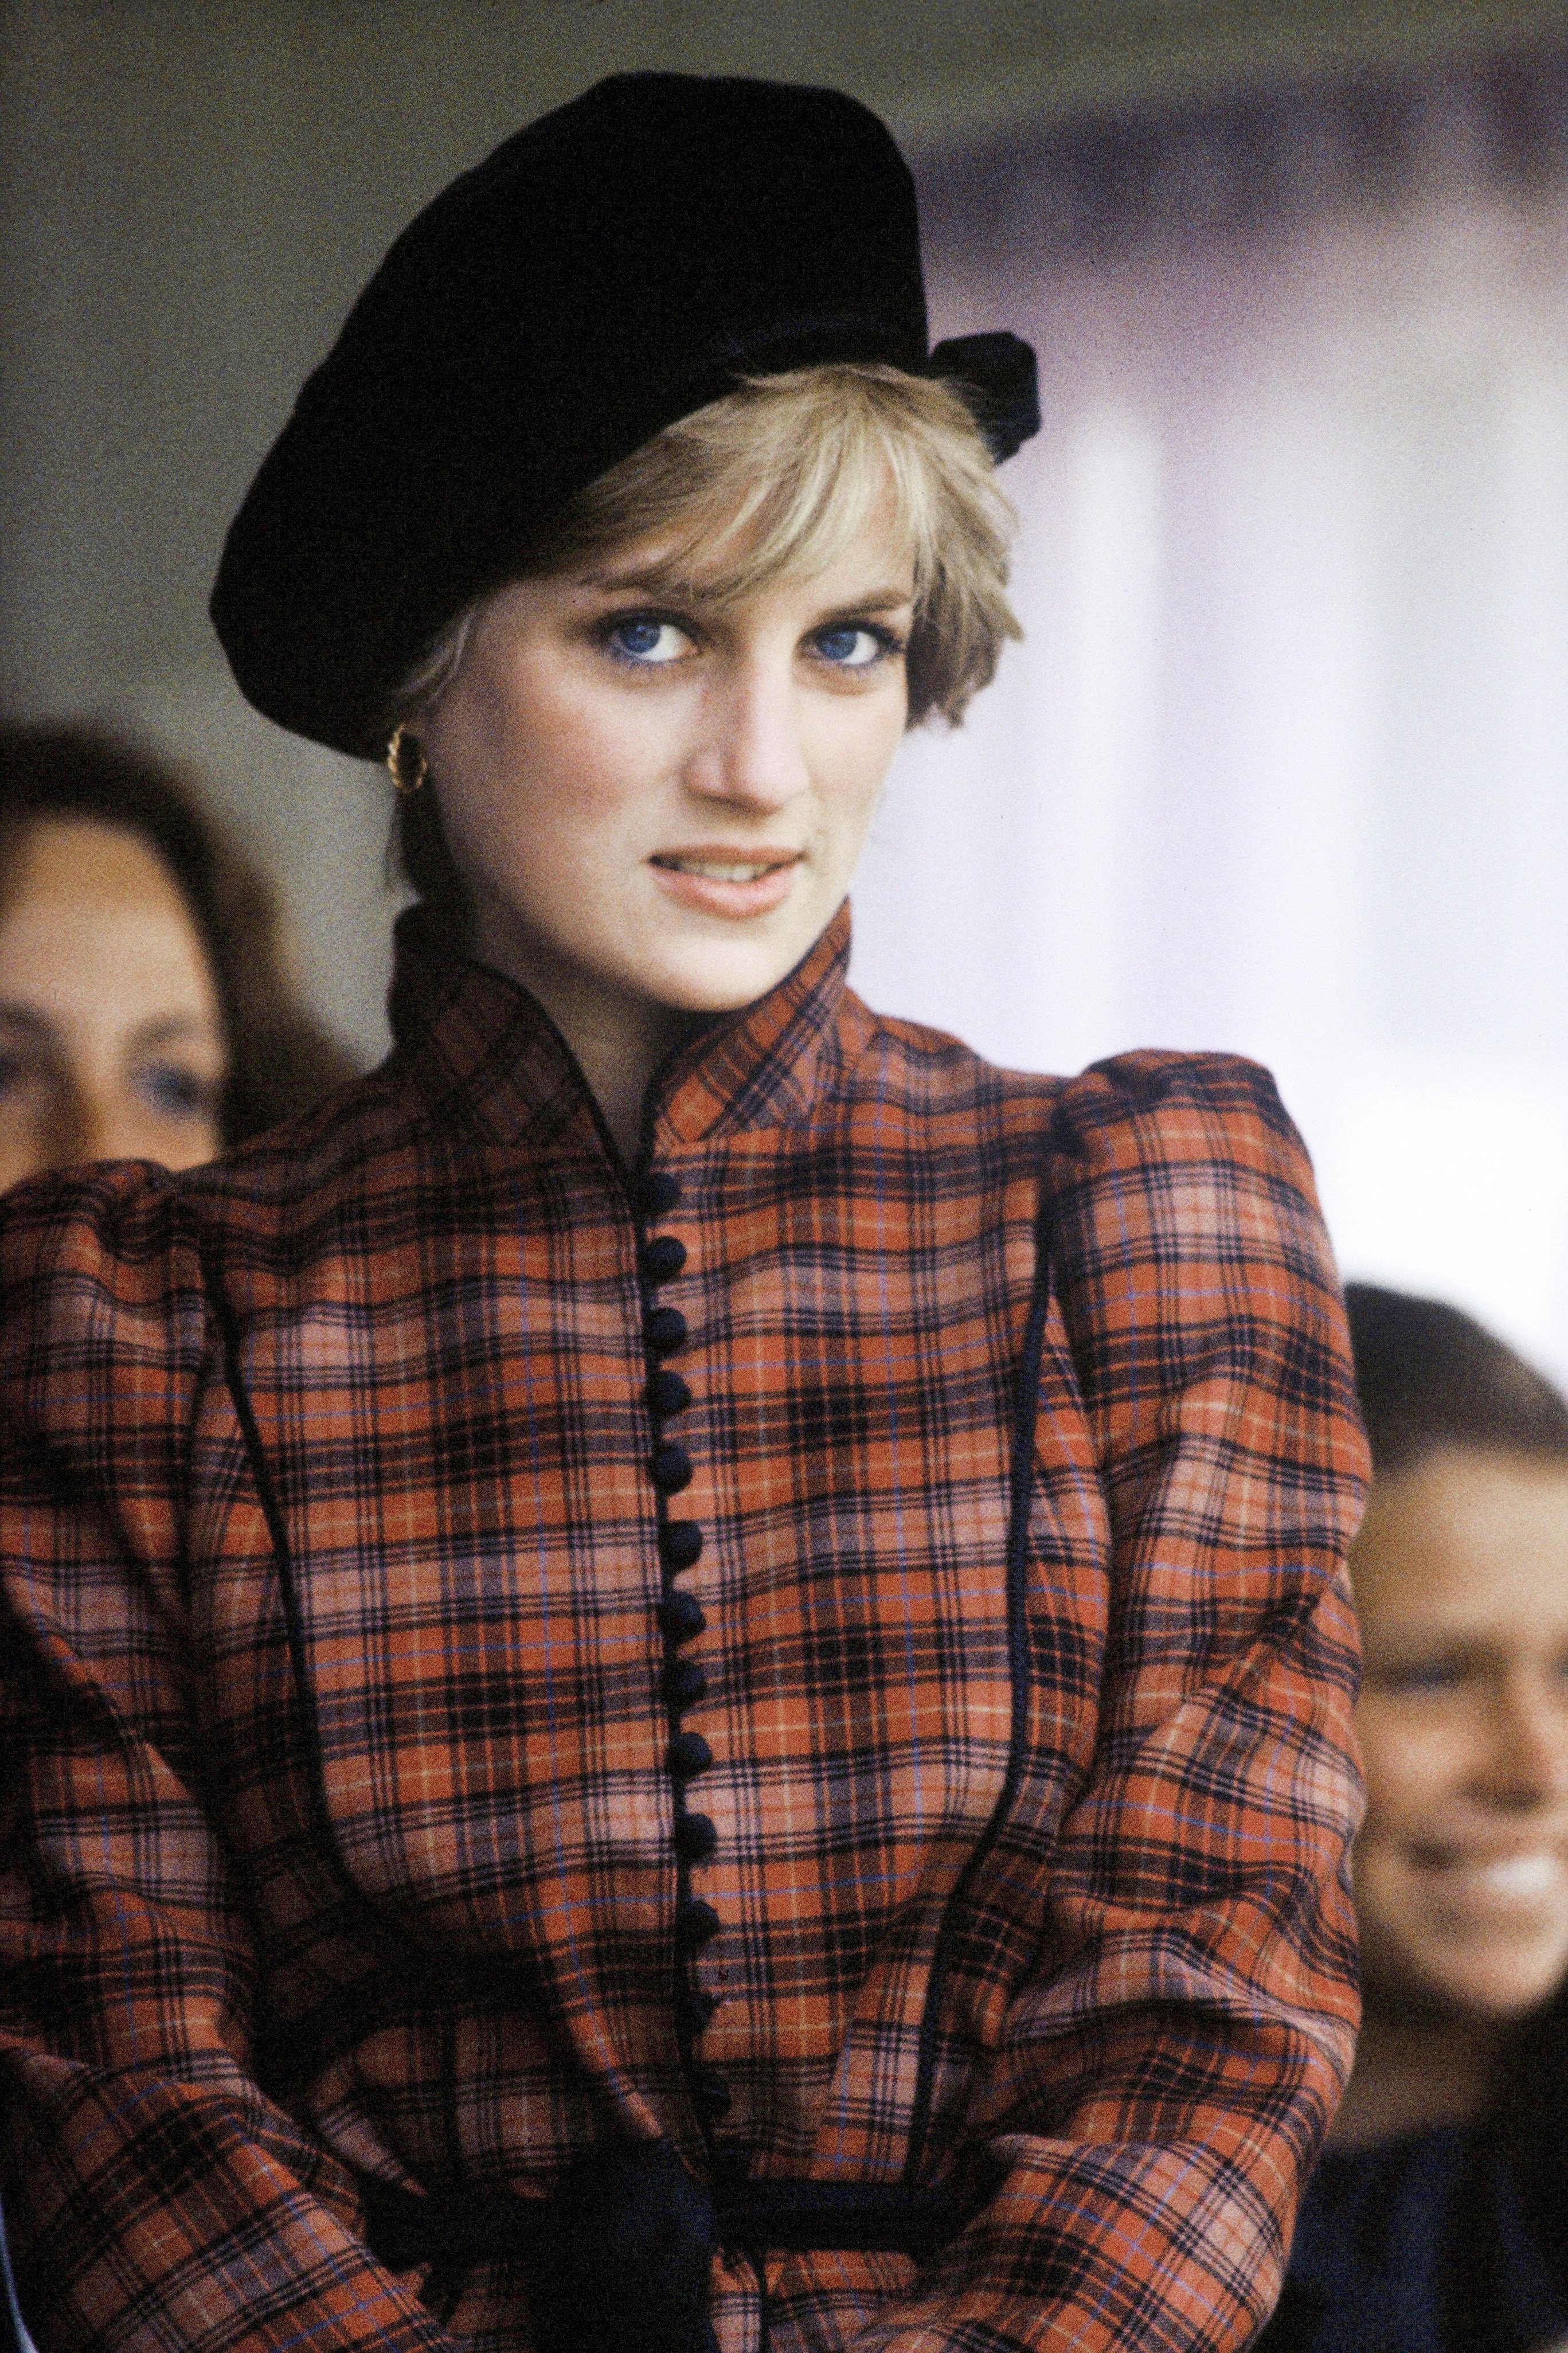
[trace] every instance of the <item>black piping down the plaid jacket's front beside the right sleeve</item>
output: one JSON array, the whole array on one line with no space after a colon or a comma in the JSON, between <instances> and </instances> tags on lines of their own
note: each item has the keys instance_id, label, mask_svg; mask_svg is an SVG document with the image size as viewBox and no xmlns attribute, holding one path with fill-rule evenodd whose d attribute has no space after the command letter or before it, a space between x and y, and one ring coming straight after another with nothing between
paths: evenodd
<instances>
[{"instance_id":1,"label":"black piping down the plaid jacket's front beside the right sleeve","mask_svg":"<svg viewBox=\"0 0 1568 2353\"><path fill-rule=\"evenodd\" d=\"M1017 1372L1017 1402L1012 1409L1012 1464L1010 1464L1010 1504L1008 1504L1008 1673L1012 1682L1012 1734L1008 1741L1008 1769L1003 1774L1001 1795L991 1809L991 1819L970 1849L970 1859L954 1882L954 1892L946 1899L942 1913L942 1925L937 1929L937 1946L930 1962L930 1977L925 1981L925 2012L921 2017L921 2052L916 2064L916 2089L913 2104L909 2108L909 2153L904 2158L904 2181L916 2184L921 2172L921 2160L925 2155L925 2139L930 2132L930 2106L935 2097L937 2080L937 2047L942 2040L942 1995L946 1993L946 1979L951 1969L951 1948L956 1937L956 1922L963 1915L970 1887L986 1864L996 1840L1001 1838L1003 1824L1012 1812L1012 1800L1017 1798L1017 1786L1024 1777L1024 1732L1029 1722L1029 1638L1024 1626L1024 1605L1029 1588L1029 1504L1034 1499L1034 1454L1036 1454L1036 1424L1041 1412L1041 1362L1045 1358L1045 1322L1050 1318L1050 1289L1052 1289L1052 1247L1055 1247L1055 1200L1050 1191L1050 1158L1057 1136L1057 1122L1050 1120L1045 1129L1045 1153L1041 1169L1041 1207L1036 1212L1036 1245L1034 1245L1034 1297L1029 1301L1029 1320L1024 1325L1024 1346L1019 1351Z\"/></svg>"}]
</instances>

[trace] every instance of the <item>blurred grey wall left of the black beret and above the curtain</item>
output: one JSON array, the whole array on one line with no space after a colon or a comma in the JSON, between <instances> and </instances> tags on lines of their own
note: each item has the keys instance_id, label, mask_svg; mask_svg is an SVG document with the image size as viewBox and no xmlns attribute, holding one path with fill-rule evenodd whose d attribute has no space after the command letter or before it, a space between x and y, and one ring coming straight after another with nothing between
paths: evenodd
<instances>
[{"instance_id":1,"label":"blurred grey wall left of the black beret and above the curtain","mask_svg":"<svg viewBox=\"0 0 1568 2353\"><path fill-rule=\"evenodd\" d=\"M0 706L186 753L283 875L313 998L377 1052L381 781L247 713L205 598L299 379L457 169L626 66L836 82L918 165L1024 120L1563 21L1488 0L0 0Z\"/></svg>"}]
</instances>

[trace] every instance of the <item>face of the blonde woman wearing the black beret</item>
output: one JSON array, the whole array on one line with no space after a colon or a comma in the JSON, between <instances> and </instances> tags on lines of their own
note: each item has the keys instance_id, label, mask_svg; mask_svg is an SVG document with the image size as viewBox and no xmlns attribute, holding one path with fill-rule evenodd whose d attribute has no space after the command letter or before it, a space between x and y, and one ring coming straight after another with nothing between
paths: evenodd
<instances>
[{"instance_id":1,"label":"face of the blonde woman wearing the black beret","mask_svg":"<svg viewBox=\"0 0 1568 2353\"><path fill-rule=\"evenodd\" d=\"M906 715L888 522L735 607L657 548L494 595L419 722L478 951L586 1019L765 995L843 901Z\"/></svg>"}]
</instances>

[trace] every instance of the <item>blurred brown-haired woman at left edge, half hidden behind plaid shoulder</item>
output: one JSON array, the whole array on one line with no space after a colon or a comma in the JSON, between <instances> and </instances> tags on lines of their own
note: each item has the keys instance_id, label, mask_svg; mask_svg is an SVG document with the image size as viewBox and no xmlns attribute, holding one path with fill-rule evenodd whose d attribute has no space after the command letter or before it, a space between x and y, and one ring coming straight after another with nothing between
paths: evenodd
<instances>
[{"instance_id":1,"label":"blurred brown-haired woman at left edge, half hidden behind plaid shoulder","mask_svg":"<svg viewBox=\"0 0 1568 2353\"><path fill-rule=\"evenodd\" d=\"M198 1167L351 1075L292 998L271 892L172 769L0 727L0 1186Z\"/></svg>"}]
</instances>

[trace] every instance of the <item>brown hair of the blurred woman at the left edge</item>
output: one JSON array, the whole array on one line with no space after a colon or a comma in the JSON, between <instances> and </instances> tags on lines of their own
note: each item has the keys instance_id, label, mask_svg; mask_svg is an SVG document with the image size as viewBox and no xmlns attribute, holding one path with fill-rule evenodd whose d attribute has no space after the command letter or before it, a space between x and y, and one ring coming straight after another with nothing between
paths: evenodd
<instances>
[{"instance_id":1,"label":"brown hair of the blurred woman at the left edge","mask_svg":"<svg viewBox=\"0 0 1568 2353\"><path fill-rule=\"evenodd\" d=\"M82 727L0 727L0 899L19 835L40 819L71 816L139 835L184 892L228 1042L226 1146L306 1111L356 1075L353 1059L292 991L271 885L177 769Z\"/></svg>"}]
</instances>

